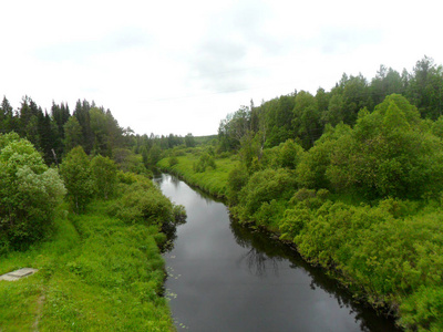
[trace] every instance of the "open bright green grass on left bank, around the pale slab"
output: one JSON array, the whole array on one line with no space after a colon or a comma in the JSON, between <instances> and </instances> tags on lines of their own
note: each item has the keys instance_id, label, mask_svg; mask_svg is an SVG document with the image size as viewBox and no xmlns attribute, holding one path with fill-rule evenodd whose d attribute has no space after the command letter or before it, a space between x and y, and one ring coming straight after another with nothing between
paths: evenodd
<instances>
[{"instance_id":1,"label":"open bright green grass on left bank, around the pale slab","mask_svg":"<svg viewBox=\"0 0 443 332\"><path fill-rule=\"evenodd\" d=\"M93 203L85 215L60 211L52 240L0 258L0 331L172 331L162 297L164 261L157 229L127 226Z\"/></svg>"}]
</instances>

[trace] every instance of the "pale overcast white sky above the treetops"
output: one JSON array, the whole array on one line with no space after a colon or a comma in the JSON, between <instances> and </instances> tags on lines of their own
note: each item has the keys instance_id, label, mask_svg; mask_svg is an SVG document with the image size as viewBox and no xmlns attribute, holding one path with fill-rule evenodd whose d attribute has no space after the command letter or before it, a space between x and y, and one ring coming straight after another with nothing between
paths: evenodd
<instances>
[{"instance_id":1,"label":"pale overcast white sky above the treetops","mask_svg":"<svg viewBox=\"0 0 443 332\"><path fill-rule=\"evenodd\" d=\"M2 1L0 97L71 112L85 98L137 134L216 134L251 98L443 64L439 2Z\"/></svg>"}]
</instances>

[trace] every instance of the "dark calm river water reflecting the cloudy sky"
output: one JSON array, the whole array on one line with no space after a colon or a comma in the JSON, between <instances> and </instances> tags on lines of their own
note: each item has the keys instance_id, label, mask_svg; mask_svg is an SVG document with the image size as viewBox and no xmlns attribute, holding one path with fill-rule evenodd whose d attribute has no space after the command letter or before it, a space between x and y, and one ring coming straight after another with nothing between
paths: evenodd
<instances>
[{"instance_id":1,"label":"dark calm river water reflecting the cloudy sky","mask_svg":"<svg viewBox=\"0 0 443 332\"><path fill-rule=\"evenodd\" d=\"M155 180L187 211L164 253L178 331L399 331L287 246L231 221L223 203L169 175Z\"/></svg>"}]
</instances>

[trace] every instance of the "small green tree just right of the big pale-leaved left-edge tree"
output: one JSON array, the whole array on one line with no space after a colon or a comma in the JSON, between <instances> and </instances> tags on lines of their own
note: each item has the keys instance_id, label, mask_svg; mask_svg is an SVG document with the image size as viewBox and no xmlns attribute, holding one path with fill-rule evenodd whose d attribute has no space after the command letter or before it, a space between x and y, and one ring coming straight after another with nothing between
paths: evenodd
<instances>
[{"instance_id":1,"label":"small green tree just right of the big pale-leaved left-edge tree","mask_svg":"<svg viewBox=\"0 0 443 332\"><path fill-rule=\"evenodd\" d=\"M64 157L60 173L68 189L68 199L76 214L83 212L94 194L91 162L82 146L76 146Z\"/></svg>"}]
</instances>

